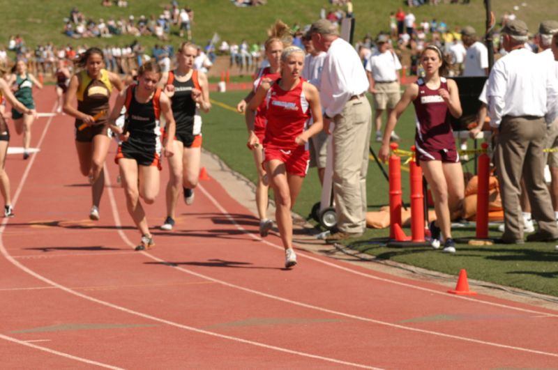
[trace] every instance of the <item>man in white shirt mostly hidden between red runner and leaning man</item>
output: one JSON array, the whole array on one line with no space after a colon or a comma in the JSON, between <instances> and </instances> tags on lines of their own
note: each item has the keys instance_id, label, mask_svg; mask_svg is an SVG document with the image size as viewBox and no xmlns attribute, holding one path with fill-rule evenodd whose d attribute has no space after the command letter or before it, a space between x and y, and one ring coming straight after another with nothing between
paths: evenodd
<instances>
[{"instance_id":1,"label":"man in white shirt mostly hidden between red runner and leaning man","mask_svg":"<svg viewBox=\"0 0 558 370\"><path fill-rule=\"evenodd\" d=\"M301 75L319 90L319 85L322 83L322 70L324 69L326 53L315 49L312 44L312 35L308 32L303 36L302 43L306 49L306 57ZM308 121L308 124L312 125L312 117ZM308 148L310 150L310 168L317 167L320 184L324 183L328 137L329 135L322 131L311 137L308 142L310 144Z\"/></svg>"}]
</instances>

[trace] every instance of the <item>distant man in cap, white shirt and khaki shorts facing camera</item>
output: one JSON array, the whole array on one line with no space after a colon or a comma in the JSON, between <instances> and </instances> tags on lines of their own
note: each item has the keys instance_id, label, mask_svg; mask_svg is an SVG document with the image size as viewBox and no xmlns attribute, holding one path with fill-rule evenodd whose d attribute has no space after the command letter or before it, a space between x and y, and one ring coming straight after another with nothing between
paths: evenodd
<instances>
[{"instance_id":1,"label":"distant man in cap, white shirt and khaki shorts facing camera","mask_svg":"<svg viewBox=\"0 0 558 370\"><path fill-rule=\"evenodd\" d=\"M377 52L366 63L366 74L370 93L374 94L376 141L382 141L382 114L387 109L389 116L401 98L398 73L401 63L389 45L389 36L378 36L376 46ZM391 139L399 140L395 131L391 132Z\"/></svg>"}]
</instances>

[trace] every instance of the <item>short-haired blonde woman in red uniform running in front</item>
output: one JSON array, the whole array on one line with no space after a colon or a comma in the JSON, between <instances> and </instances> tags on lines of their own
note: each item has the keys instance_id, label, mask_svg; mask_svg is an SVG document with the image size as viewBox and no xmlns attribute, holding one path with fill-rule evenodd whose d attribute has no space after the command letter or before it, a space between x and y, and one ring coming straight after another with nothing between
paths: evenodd
<instances>
[{"instance_id":1,"label":"short-haired blonde woman in red uniform running in front","mask_svg":"<svg viewBox=\"0 0 558 370\"><path fill-rule=\"evenodd\" d=\"M291 209L308 171L308 139L322 130L319 93L301 78L303 65L304 52L299 47L287 47L281 54L281 78L274 83L262 82L249 105L250 111L256 111L262 102L266 104L264 166L271 176L276 222L285 247L287 268L296 265ZM304 130L310 114L314 123ZM257 144L259 139L252 128L248 145Z\"/></svg>"}]
</instances>

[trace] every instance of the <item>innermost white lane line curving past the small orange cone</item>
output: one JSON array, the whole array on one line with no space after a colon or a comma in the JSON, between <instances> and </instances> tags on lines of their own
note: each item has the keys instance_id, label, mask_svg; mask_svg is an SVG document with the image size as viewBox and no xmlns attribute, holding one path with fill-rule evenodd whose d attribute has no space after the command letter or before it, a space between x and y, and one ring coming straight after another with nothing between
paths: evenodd
<instances>
[{"instance_id":1,"label":"innermost white lane line curving past the small orange cone","mask_svg":"<svg viewBox=\"0 0 558 370\"><path fill-rule=\"evenodd\" d=\"M251 231L248 231L243 226L238 224L234 220L234 217L232 217L227 212L227 210L225 210L225 208L223 208L223 206L221 206L221 204L215 198L213 198L213 196L211 196L211 194L209 194L209 192L207 190L204 189L203 185L198 184L197 187L199 187L199 189L202 190L202 192L208 197L208 199L213 203L213 205L216 206L218 208L218 210L221 213L223 213L223 215L225 215L225 217L227 217L227 219L229 219L230 222L232 222L232 224L234 224L234 226L236 226L236 229L238 229L239 231L243 231L248 236L250 236L250 238L252 238L254 240L259 240L259 241L263 242L264 244L269 245L269 246L271 246L273 248L276 248L276 249L285 250L285 248L283 248L282 245L274 244L274 243L269 242L265 239L262 239L259 235L256 235L255 233L252 233ZM428 293L444 295L444 297L446 297L448 299L469 300L471 302L481 303L483 305L490 305L490 306L501 307L501 308L505 308L505 309L512 309L512 310L515 310L515 311L527 312L529 314L540 314L542 316L558 318L558 314L550 314L549 312L536 311L536 310L533 310L533 309L524 309L524 308L520 308L520 307L513 307L513 306L509 306L509 305L504 305L502 303L488 302L488 301L484 301L484 300L478 300L476 298L465 297L465 296L462 296L462 295L450 295L450 294L446 293L446 291L436 291L434 289L423 288L422 286L416 286L416 285L407 284L407 283L404 283L404 282L398 282L396 280L387 279L385 277L377 277L375 275L369 275L369 274L366 274L364 272L360 272L360 271L357 271L357 270L352 270L351 268L347 268L347 267L342 266L342 265L337 265L335 263L325 261L324 259L318 259L315 256L312 256L310 254L304 254L304 253L297 252L296 255L297 256L303 256L306 259L310 259L312 261L322 263L324 265L328 265L329 267L332 267L332 268L337 268L338 270L343 270L345 272L349 272L349 273L352 273L352 274L355 274L355 275L366 277L368 279L375 279L375 280L378 280L380 282L386 282L386 283L395 284L395 285L399 285L399 286L405 286L406 288L418 289L419 291L425 291L425 292L428 292Z\"/></svg>"}]
</instances>

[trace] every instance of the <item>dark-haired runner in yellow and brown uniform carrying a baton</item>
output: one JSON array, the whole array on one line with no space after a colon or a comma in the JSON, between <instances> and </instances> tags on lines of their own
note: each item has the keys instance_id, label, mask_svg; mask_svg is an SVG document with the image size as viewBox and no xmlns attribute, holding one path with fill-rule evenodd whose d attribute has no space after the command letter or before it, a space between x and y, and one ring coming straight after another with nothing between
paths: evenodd
<instances>
[{"instance_id":1,"label":"dark-haired runner in yellow and brown uniform carrying a baton","mask_svg":"<svg viewBox=\"0 0 558 370\"><path fill-rule=\"evenodd\" d=\"M64 95L63 111L75 119L75 148L83 176L92 184L92 220L99 219L99 203L105 188L103 167L110 146L107 125L109 99L114 86L122 90L118 75L103 68L103 51L91 47L80 56L77 67L81 70L70 79ZM77 109L72 106L77 98Z\"/></svg>"}]
</instances>

